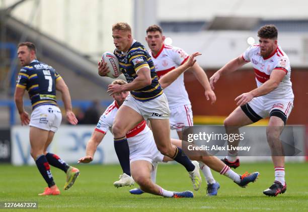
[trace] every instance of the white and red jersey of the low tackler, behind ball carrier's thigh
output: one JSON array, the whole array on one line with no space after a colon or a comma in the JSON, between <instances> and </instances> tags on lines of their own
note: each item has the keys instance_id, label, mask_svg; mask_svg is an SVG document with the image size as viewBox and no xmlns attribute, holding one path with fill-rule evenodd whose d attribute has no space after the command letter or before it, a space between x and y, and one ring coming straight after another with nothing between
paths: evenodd
<instances>
[{"instance_id":1,"label":"white and red jersey of the low tackler, behind ball carrier's thigh","mask_svg":"<svg viewBox=\"0 0 308 212\"><path fill-rule=\"evenodd\" d=\"M110 104L109 107L106 109L104 114L100 117L95 131L101 132L103 134L106 134L108 130L111 131L113 120L115 119L118 109L119 106L117 102L113 101L112 104ZM142 142L143 139L138 139L138 136L146 134L149 130L150 129L147 127L146 122L143 120L137 126L135 126L133 129L126 133L128 144L130 146L134 146L137 145L137 143Z\"/></svg>"}]
</instances>

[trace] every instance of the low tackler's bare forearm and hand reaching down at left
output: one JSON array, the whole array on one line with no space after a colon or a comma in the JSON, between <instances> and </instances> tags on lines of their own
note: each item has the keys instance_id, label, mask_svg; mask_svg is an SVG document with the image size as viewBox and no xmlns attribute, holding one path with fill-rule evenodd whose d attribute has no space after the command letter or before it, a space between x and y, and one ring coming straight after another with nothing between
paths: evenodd
<instances>
[{"instance_id":1,"label":"low tackler's bare forearm and hand reaching down at left","mask_svg":"<svg viewBox=\"0 0 308 212\"><path fill-rule=\"evenodd\" d=\"M90 163L93 161L94 154L96 152L97 146L103 140L105 134L94 131L90 140L88 141L87 148L86 148L86 156L80 158L78 163Z\"/></svg>"}]
</instances>

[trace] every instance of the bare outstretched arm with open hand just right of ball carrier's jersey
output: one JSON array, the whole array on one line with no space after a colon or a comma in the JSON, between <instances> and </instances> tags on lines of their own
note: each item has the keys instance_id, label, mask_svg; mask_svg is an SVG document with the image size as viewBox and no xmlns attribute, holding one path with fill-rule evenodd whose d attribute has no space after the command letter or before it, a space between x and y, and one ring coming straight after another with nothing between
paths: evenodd
<instances>
[{"instance_id":1,"label":"bare outstretched arm with open hand just right of ball carrier's jersey","mask_svg":"<svg viewBox=\"0 0 308 212\"><path fill-rule=\"evenodd\" d=\"M162 88L168 87L172 82L174 82L184 71L186 71L188 68L192 67L196 63L196 56L201 55L199 52L195 52L192 55L189 56L188 60L180 65L179 67L173 69L172 71L169 71L167 74L162 76L159 80Z\"/></svg>"}]
</instances>

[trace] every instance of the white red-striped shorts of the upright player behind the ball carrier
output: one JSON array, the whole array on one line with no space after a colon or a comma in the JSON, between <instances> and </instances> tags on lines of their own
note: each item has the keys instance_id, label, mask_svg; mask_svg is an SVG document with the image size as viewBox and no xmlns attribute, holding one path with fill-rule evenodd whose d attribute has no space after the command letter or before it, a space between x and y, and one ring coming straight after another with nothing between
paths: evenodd
<instances>
[{"instance_id":1,"label":"white red-striped shorts of the upright player behind the ball carrier","mask_svg":"<svg viewBox=\"0 0 308 212\"><path fill-rule=\"evenodd\" d=\"M182 128L185 126L194 126L191 104L170 109L171 130L182 131Z\"/></svg>"}]
</instances>

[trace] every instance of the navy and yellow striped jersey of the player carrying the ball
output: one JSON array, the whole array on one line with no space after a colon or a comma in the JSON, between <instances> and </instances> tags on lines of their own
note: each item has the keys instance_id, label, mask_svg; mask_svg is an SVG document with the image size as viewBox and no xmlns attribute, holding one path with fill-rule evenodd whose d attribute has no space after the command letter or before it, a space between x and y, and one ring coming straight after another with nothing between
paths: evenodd
<instances>
[{"instance_id":1,"label":"navy and yellow striped jersey of the player carrying the ball","mask_svg":"<svg viewBox=\"0 0 308 212\"><path fill-rule=\"evenodd\" d=\"M135 99L139 101L148 101L163 94L163 89L158 81L151 56L141 43L134 42L127 53L122 53L116 49L114 54L119 60L120 70L128 83L132 82L137 77L136 72L140 68L147 67L150 70L152 83L141 89L130 91L130 94Z\"/></svg>"}]
</instances>

